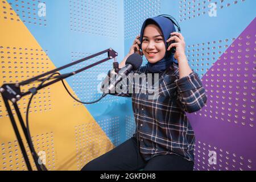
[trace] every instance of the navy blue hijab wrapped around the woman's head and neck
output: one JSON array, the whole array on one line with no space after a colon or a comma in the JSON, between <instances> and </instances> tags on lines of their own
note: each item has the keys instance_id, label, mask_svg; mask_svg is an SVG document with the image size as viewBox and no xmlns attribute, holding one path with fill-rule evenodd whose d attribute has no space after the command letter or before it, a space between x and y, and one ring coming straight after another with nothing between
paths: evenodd
<instances>
[{"instance_id":1,"label":"navy blue hijab wrapped around the woman's head and neck","mask_svg":"<svg viewBox=\"0 0 256 182\"><path fill-rule=\"evenodd\" d=\"M160 28L160 30L162 31L162 34L164 36L164 44L166 45L166 55L164 55L163 59L158 61L157 63L152 64L152 63L148 62L146 64L147 71L150 73L161 73L161 72L166 71L166 69L168 67L170 67L170 65L172 65L173 62L177 63L177 60L174 59L174 55L167 54L167 42L166 42L166 40L169 38L171 32L175 32L175 27L170 19L165 18L163 16L156 16L154 18L148 18L144 21L142 28L141 28L141 37L140 37L141 43L143 40L144 29L146 28L146 26L148 24L156 24L156 26L158 26Z\"/></svg>"}]
</instances>

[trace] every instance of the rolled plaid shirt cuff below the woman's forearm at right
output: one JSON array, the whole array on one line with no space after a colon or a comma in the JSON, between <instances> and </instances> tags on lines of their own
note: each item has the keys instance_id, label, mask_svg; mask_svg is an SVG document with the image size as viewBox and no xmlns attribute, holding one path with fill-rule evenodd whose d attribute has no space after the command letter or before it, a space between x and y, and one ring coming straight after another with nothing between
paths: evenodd
<instances>
[{"instance_id":1,"label":"rolled plaid shirt cuff below the woman's forearm at right","mask_svg":"<svg viewBox=\"0 0 256 182\"><path fill-rule=\"evenodd\" d=\"M196 72L192 72L188 76L177 79L174 82L177 85L177 91L179 93L203 86Z\"/></svg>"}]
</instances>

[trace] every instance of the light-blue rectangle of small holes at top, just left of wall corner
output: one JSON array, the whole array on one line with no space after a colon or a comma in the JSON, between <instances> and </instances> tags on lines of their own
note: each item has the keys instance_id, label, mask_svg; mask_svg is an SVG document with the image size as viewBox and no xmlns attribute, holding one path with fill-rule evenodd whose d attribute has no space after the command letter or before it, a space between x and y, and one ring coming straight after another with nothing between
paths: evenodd
<instances>
[{"instance_id":1,"label":"light-blue rectangle of small holes at top, just left of wall corner","mask_svg":"<svg viewBox=\"0 0 256 182\"><path fill-rule=\"evenodd\" d=\"M117 2L70 0L71 31L117 38Z\"/></svg>"}]
</instances>

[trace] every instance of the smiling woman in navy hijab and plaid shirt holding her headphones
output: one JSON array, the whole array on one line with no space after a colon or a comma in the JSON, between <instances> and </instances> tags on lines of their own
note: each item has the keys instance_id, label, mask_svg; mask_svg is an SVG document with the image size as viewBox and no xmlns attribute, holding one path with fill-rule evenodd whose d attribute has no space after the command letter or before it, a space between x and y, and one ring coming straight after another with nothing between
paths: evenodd
<instances>
[{"instance_id":1,"label":"smiling woman in navy hijab and plaid shirt holding her headphones","mask_svg":"<svg viewBox=\"0 0 256 182\"><path fill-rule=\"evenodd\" d=\"M168 18L156 16L144 21L141 35L119 67L125 66L133 53L144 55L148 63L135 72L159 74L158 97L115 93L132 97L136 133L82 170L193 170L195 135L185 112L200 110L207 97L199 76L189 67L184 37L174 31ZM168 39L170 34L175 36ZM171 40L176 43L167 47ZM168 53L172 47L176 47L174 55Z\"/></svg>"}]
</instances>

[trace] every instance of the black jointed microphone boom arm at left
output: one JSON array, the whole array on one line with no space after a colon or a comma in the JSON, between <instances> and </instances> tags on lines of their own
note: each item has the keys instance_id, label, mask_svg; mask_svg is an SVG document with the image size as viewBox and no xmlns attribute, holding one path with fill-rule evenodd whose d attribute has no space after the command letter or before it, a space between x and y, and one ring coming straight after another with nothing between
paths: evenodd
<instances>
[{"instance_id":1,"label":"black jointed microphone boom arm at left","mask_svg":"<svg viewBox=\"0 0 256 182\"><path fill-rule=\"evenodd\" d=\"M58 72L58 71L60 71L62 69L71 67L72 65L79 64L82 61L85 61L85 60L88 60L88 59L92 59L93 57L96 57L98 55L102 55L103 53L108 53L108 57L105 58L105 59L102 59L100 61L97 61L96 63L90 64L90 65L88 65L88 66L86 66L84 68L78 69L77 71L74 71L74 72L71 72L71 73L64 73L62 75L59 74L58 76L52 77L51 79L54 79L54 80L49 81L46 84L42 84L38 88L34 88L33 87L33 88L28 89L27 92L24 92L24 93L20 92L20 86L22 86L22 85L27 85L27 84L30 84L30 83L35 82L35 81L41 81L42 82L45 79L45 77L47 77L47 76L49 76L49 75L51 75L53 73L56 73L56 72ZM32 149L34 147L31 146L32 144L29 142L30 141L30 137L27 134L27 126L24 125L24 121L23 121L22 115L20 113L18 104L16 102L19 101L22 97L27 96L30 93L35 94L37 92L37 90L40 90L40 89L42 89L42 88L44 88L46 86L52 85L55 82L62 81L65 78L68 78L68 77L71 77L73 75L76 75L77 73L85 71L86 69L95 67L96 65L104 63L105 61L108 61L110 59L114 59L115 60L117 56L118 56L118 53L115 52L112 48L109 48L109 49L106 49L104 51L95 53L94 55L91 55L91 56L85 57L83 59L77 60L77 61L75 61L73 63L69 63L67 65L64 65L64 66L62 66L60 68L56 68L56 69L53 69L52 71L43 73L42 75L29 78L28 80L25 80L25 81L22 81L22 82L19 82L19 83L16 83L16 84L13 84L13 83L3 84L1 86L0 92L2 94L3 101L5 102L5 106L6 106L8 114L9 114L9 118L11 120L11 125L13 125L14 133L15 133L16 138L18 140L18 143L19 143L19 146L20 146L20 150L22 151L24 160L26 162L27 169L29 171L32 170L32 167L31 167L31 164L30 164L30 160L28 159L28 155L27 155L26 149L24 147L24 143L23 143L22 137L21 137L20 132L18 130L18 126L16 125L14 114L13 114L13 112L11 110L11 106L10 106L9 101L13 102L13 106L14 106L15 112L16 112L16 114L18 116L18 120L20 122L20 125L22 126L22 131L23 131L24 136L25 136L25 138L27 140L28 147L30 148L30 151L32 153L34 162L36 164L36 168L38 169L38 171L42 171L43 169L46 169L46 167L42 166L42 164L41 164L41 166L38 164L38 156L37 156L37 154L33 155L33 150Z\"/></svg>"}]
</instances>

